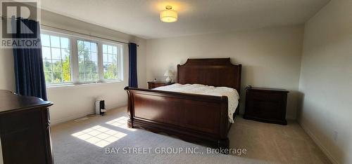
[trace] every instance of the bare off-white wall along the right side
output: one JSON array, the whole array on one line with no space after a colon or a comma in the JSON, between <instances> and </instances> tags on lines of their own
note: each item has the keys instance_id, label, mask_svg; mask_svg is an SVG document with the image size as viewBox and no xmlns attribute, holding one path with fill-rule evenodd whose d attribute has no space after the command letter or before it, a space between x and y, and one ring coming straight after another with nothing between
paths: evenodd
<instances>
[{"instance_id":1,"label":"bare off-white wall along the right side","mask_svg":"<svg viewBox=\"0 0 352 164\"><path fill-rule=\"evenodd\" d=\"M330 1L306 22L299 87L302 127L339 163L352 163L351 8Z\"/></svg>"}]
</instances>

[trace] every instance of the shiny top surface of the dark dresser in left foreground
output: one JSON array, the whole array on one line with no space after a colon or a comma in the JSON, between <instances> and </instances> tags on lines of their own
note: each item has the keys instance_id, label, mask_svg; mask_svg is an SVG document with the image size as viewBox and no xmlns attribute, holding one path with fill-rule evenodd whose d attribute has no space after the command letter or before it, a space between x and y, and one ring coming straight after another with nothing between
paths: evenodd
<instances>
[{"instance_id":1,"label":"shiny top surface of the dark dresser in left foreground","mask_svg":"<svg viewBox=\"0 0 352 164\"><path fill-rule=\"evenodd\" d=\"M15 95L11 91L0 90L0 114L51 105L51 102L43 101L38 97Z\"/></svg>"}]
</instances>

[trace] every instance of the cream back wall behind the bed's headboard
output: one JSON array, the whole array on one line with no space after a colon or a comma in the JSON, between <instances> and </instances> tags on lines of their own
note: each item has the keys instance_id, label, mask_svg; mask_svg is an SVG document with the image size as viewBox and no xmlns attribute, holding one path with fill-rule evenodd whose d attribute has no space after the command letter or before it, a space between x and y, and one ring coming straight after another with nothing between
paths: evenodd
<instances>
[{"instance_id":1,"label":"cream back wall behind the bed's headboard","mask_svg":"<svg viewBox=\"0 0 352 164\"><path fill-rule=\"evenodd\" d=\"M146 77L164 80L187 58L231 57L243 65L241 109L246 85L290 90L287 116L296 118L303 27L272 27L146 41Z\"/></svg>"}]
</instances>

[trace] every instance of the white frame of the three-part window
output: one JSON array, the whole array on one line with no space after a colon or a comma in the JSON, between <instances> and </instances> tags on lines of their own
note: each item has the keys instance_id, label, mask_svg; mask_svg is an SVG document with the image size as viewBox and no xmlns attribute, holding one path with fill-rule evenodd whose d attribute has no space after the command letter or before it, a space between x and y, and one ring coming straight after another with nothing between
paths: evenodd
<instances>
[{"instance_id":1,"label":"white frame of the three-part window","mask_svg":"<svg viewBox=\"0 0 352 164\"><path fill-rule=\"evenodd\" d=\"M111 83L111 82L122 82L124 81L124 51L125 44L118 43L114 41L105 41L103 39L96 39L94 37L88 38L87 36L82 36L79 34L67 34L65 32L56 32L52 29L41 29L41 34L48 34L54 36L60 36L70 39L70 76L71 82L63 83L46 83L47 87L56 87L56 86L72 86L79 84L89 84L89 83ZM79 77L79 60L78 60L78 47L77 41L89 41L96 43L96 55L97 55L97 64L98 64L98 79L96 81L80 81ZM115 79L104 79L103 77L103 44L109 46L118 47L118 78ZM42 60L43 61L43 60Z\"/></svg>"}]
</instances>

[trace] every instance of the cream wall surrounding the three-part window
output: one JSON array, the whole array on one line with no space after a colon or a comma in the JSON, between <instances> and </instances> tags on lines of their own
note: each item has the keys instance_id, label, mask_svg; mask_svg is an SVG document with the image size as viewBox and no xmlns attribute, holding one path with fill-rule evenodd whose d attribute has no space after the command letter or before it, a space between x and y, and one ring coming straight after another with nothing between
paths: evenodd
<instances>
[{"instance_id":1,"label":"cream wall surrounding the three-part window","mask_svg":"<svg viewBox=\"0 0 352 164\"><path fill-rule=\"evenodd\" d=\"M102 36L120 41L132 41L139 44L137 48L137 69L139 87L146 88L146 40L116 32L111 29L74 20L63 15L42 11L41 23L75 32ZM101 97L106 100L108 109L127 105L127 93L123 88L128 86L128 48L125 46L124 64L125 80L120 83L100 83L79 86L47 88L48 99L54 102L50 109L51 122L59 123L79 118L94 112L94 100ZM13 76L12 49L0 49L0 89L15 90Z\"/></svg>"}]
</instances>

